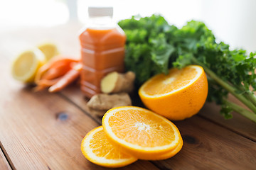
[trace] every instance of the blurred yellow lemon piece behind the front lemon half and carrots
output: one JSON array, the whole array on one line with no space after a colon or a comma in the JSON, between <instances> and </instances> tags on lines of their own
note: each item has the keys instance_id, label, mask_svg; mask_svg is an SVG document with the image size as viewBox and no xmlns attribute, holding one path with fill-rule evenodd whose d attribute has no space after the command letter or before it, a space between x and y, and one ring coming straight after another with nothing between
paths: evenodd
<instances>
[{"instance_id":1,"label":"blurred yellow lemon piece behind the front lemon half and carrots","mask_svg":"<svg viewBox=\"0 0 256 170\"><path fill-rule=\"evenodd\" d=\"M53 43L44 43L42 45L38 45L38 49L46 55L46 61L49 61L55 55L58 55L58 48Z\"/></svg>"}]
</instances>

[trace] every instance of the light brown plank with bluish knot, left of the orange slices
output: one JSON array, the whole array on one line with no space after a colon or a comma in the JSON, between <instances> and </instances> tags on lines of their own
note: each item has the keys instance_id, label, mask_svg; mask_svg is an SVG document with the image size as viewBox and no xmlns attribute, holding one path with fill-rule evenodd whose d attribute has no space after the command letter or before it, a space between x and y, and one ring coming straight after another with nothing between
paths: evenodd
<instances>
[{"instance_id":1,"label":"light brown plank with bluish knot, left of the orange slices","mask_svg":"<svg viewBox=\"0 0 256 170\"><path fill-rule=\"evenodd\" d=\"M14 169L105 169L80 151L82 138L99 124L58 94L33 93L14 81L9 56L1 56L0 142ZM138 161L123 169L157 168Z\"/></svg>"}]
</instances>

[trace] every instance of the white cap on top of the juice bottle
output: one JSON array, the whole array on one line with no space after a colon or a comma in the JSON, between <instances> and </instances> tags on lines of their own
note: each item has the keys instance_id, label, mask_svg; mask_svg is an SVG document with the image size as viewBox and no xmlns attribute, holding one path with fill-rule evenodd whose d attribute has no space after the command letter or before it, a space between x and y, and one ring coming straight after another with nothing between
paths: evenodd
<instances>
[{"instance_id":1,"label":"white cap on top of the juice bottle","mask_svg":"<svg viewBox=\"0 0 256 170\"><path fill-rule=\"evenodd\" d=\"M88 13L90 17L113 16L113 7L111 6L89 6Z\"/></svg>"}]
</instances>

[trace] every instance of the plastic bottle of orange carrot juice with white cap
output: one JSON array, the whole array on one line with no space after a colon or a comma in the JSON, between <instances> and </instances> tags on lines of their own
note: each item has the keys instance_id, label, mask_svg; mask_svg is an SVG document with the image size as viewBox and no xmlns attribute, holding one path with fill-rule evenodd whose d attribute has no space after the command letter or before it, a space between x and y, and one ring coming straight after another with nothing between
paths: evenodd
<instances>
[{"instance_id":1,"label":"plastic bottle of orange carrot juice with white cap","mask_svg":"<svg viewBox=\"0 0 256 170\"><path fill-rule=\"evenodd\" d=\"M89 16L95 22L79 36L83 65L80 88L88 98L101 92L100 81L107 73L124 72L126 37L119 26L110 22L112 13L108 9L89 8Z\"/></svg>"}]
</instances>

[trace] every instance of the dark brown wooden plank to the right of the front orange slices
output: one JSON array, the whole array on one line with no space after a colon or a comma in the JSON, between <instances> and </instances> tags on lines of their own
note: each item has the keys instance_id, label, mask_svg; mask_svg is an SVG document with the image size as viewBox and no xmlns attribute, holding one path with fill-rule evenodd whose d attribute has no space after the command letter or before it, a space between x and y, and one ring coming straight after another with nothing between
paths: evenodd
<instances>
[{"instance_id":1,"label":"dark brown wooden plank to the right of the front orange slices","mask_svg":"<svg viewBox=\"0 0 256 170\"><path fill-rule=\"evenodd\" d=\"M174 123L184 145L175 157L154 162L160 169L255 169L256 143L252 140L197 115Z\"/></svg>"}]
</instances>

